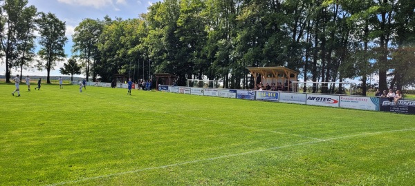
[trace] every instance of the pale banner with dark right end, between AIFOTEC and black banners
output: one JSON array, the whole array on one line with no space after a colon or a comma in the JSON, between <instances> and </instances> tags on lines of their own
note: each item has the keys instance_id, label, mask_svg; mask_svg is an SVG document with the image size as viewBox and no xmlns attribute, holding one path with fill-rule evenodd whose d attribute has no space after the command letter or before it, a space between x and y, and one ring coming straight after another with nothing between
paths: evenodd
<instances>
[{"instance_id":1,"label":"pale banner with dark right end, between AIFOTEC and black banners","mask_svg":"<svg viewBox=\"0 0 415 186\"><path fill-rule=\"evenodd\" d=\"M340 107L359 110L379 110L379 98L364 96L340 96Z\"/></svg>"}]
</instances>

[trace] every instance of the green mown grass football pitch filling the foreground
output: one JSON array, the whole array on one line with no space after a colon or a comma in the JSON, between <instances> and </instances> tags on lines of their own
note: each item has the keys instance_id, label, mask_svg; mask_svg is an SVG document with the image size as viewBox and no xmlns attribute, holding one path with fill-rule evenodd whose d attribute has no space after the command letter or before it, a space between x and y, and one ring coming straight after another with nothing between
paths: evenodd
<instances>
[{"instance_id":1,"label":"green mown grass football pitch filling the foreground","mask_svg":"<svg viewBox=\"0 0 415 186\"><path fill-rule=\"evenodd\" d=\"M415 185L415 116L0 83L0 185Z\"/></svg>"}]
</instances>

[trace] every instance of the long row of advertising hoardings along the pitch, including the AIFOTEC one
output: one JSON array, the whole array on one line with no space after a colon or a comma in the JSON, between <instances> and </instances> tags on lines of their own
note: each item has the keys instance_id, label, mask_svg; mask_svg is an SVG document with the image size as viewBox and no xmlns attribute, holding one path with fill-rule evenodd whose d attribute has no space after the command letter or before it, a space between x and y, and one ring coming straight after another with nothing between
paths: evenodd
<instances>
[{"instance_id":1,"label":"long row of advertising hoardings along the pitch, including the AIFOTEC one","mask_svg":"<svg viewBox=\"0 0 415 186\"><path fill-rule=\"evenodd\" d=\"M333 94L306 94L295 92L229 90L215 88L172 87L166 92L193 94L199 96L219 96L232 99L273 101L302 105L319 105L325 107L342 107L357 110L374 110L415 114L415 101L400 100L398 104L388 99L371 96L347 96Z\"/></svg>"}]
</instances>

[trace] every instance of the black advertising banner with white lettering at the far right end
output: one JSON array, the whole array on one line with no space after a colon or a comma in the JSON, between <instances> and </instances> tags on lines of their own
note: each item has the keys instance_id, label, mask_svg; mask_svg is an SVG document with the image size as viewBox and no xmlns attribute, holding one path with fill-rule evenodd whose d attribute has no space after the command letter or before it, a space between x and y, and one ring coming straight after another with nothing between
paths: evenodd
<instances>
[{"instance_id":1,"label":"black advertising banner with white lettering at the far right end","mask_svg":"<svg viewBox=\"0 0 415 186\"><path fill-rule=\"evenodd\" d=\"M399 100L397 104L387 98L380 98L380 111L415 114L415 100Z\"/></svg>"}]
</instances>

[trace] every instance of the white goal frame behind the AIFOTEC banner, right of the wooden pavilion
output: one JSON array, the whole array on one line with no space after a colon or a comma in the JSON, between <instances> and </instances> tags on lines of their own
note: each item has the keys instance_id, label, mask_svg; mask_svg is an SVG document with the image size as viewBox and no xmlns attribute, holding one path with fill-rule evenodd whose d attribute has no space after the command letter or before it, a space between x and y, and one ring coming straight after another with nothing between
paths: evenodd
<instances>
[{"instance_id":1,"label":"white goal frame behind the AIFOTEC banner, right of the wooden pavilion","mask_svg":"<svg viewBox=\"0 0 415 186\"><path fill-rule=\"evenodd\" d=\"M351 82L293 81L292 86L293 92L313 92L314 90L316 93L345 94L349 90L351 95L356 90L356 83Z\"/></svg>"}]
</instances>

